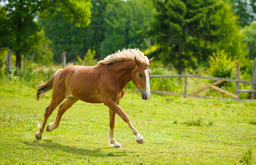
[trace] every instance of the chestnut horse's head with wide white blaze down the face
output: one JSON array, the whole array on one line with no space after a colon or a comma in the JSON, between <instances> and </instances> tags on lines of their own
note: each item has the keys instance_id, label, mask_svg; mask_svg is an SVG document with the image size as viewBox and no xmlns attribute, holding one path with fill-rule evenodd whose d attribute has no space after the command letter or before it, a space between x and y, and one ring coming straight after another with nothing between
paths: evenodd
<instances>
[{"instance_id":1,"label":"chestnut horse's head with wide white blaze down the face","mask_svg":"<svg viewBox=\"0 0 256 165\"><path fill-rule=\"evenodd\" d=\"M142 64L135 58L136 67L132 70L131 80L138 90L141 92L143 100L150 99L150 69L148 65ZM150 59L150 63L153 61L153 57Z\"/></svg>"}]
</instances>

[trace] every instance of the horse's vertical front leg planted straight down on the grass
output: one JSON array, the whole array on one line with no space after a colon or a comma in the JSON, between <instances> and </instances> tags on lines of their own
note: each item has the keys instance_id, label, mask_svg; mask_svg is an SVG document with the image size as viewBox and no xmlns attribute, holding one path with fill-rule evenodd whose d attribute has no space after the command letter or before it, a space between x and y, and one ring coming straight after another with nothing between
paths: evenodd
<instances>
[{"instance_id":1,"label":"horse's vertical front leg planted straight down on the grass","mask_svg":"<svg viewBox=\"0 0 256 165\"><path fill-rule=\"evenodd\" d=\"M114 127L115 127L115 112L109 108L109 144L114 146L114 148L121 148L119 142L117 142L114 138Z\"/></svg>"}]
</instances>

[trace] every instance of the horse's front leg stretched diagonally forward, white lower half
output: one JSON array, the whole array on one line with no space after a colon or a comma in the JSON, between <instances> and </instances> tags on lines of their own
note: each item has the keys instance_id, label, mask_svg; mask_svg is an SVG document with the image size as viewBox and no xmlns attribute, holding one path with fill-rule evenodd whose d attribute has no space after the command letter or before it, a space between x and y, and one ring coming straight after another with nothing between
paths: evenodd
<instances>
[{"instance_id":1,"label":"horse's front leg stretched diagonally forward, white lower half","mask_svg":"<svg viewBox=\"0 0 256 165\"><path fill-rule=\"evenodd\" d=\"M134 126L130 122L129 116L127 116L124 111L119 107L119 105L112 99L108 99L104 101L104 105L108 106L110 109L112 109L115 113L117 113L130 127L132 134L136 136L136 141L138 144L143 144L145 140L143 137L138 133L138 131L134 128ZM111 130L110 130L111 131Z\"/></svg>"}]
</instances>

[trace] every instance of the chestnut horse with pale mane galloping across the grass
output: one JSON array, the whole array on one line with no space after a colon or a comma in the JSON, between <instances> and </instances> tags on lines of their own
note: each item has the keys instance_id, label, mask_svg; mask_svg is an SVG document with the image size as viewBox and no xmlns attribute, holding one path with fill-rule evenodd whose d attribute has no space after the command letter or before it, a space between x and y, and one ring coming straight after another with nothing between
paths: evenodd
<instances>
[{"instance_id":1,"label":"chestnut horse with pale mane galloping across the grass","mask_svg":"<svg viewBox=\"0 0 256 165\"><path fill-rule=\"evenodd\" d=\"M132 134L136 136L136 142L143 144L145 140L130 122L129 116L119 107L119 101L125 94L124 87L132 80L141 92L143 100L150 99L150 75L148 65L153 57L148 60L138 48L123 49L110 54L97 65L86 67L71 65L64 69L58 69L51 78L42 82L36 90L36 99L39 101L51 89L52 99L46 108L42 124L38 125L39 131L35 134L37 140L41 140L46 121L59 106L54 123L49 123L46 131L58 128L62 115L78 100L88 103L104 103L109 107L110 136L109 144L115 148L121 148L114 138L115 114L117 113L126 122Z\"/></svg>"}]
</instances>

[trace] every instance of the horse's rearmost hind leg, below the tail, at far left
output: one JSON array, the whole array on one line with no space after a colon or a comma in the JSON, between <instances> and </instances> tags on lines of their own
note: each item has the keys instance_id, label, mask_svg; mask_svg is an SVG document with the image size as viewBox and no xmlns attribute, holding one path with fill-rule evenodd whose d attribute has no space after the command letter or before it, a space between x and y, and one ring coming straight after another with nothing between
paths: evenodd
<instances>
[{"instance_id":1,"label":"horse's rearmost hind leg, below the tail, at far left","mask_svg":"<svg viewBox=\"0 0 256 165\"><path fill-rule=\"evenodd\" d=\"M44 119L42 120L42 124L39 125L39 132L35 134L35 138L37 140L41 140L42 138L42 132L45 130L45 124L47 122L47 119L51 116L54 109L60 105L60 103L64 100L64 98L55 100L52 98L50 105L45 109Z\"/></svg>"}]
</instances>

